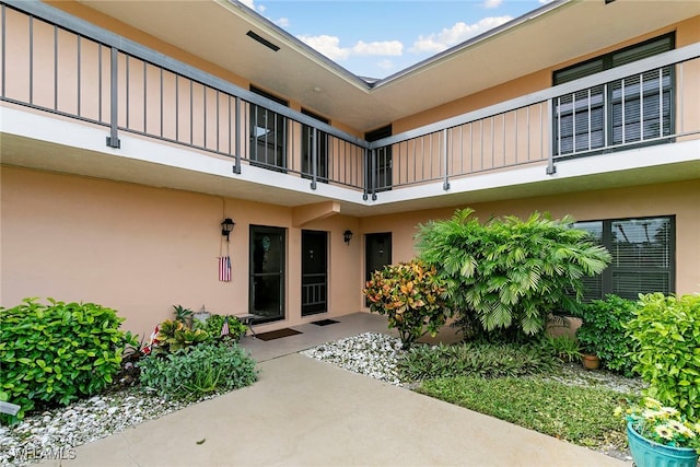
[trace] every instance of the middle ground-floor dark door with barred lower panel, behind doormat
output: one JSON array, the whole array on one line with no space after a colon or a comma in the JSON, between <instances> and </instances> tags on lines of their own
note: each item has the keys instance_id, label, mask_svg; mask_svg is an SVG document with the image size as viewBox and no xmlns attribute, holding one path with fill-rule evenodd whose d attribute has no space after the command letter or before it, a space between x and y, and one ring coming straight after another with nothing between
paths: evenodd
<instances>
[{"instance_id":1,"label":"middle ground-floor dark door with barred lower panel, behind doormat","mask_svg":"<svg viewBox=\"0 0 700 467\"><path fill-rule=\"evenodd\" d=\"M328 233L302 231L302 316L328 311Z\"/></svg>"}]
</instances>

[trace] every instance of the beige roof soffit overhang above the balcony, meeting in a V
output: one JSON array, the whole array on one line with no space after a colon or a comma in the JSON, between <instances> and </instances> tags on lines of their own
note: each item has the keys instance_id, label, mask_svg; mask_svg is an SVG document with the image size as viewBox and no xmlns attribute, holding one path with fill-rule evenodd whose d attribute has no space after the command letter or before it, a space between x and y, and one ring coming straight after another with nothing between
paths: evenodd
<instances>
[{"instance_id":1,"label":"beige roof soffit overhang above the balcony, meeting in a V","mask_svg":"<svg viewBox=\"0 0 700 467\"><path fill-rule=\"evenodd\" d=\"M359 131L700 14L695 0L553 1L370 84L234 0L79 1Z\"/></svg>"}]
</instances>

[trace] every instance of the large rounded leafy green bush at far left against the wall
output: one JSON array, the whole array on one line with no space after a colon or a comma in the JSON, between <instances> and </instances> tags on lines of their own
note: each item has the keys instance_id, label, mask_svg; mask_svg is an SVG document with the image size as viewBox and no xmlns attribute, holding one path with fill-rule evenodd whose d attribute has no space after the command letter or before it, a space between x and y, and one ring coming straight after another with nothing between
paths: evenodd
<instances>
[{"instance_id":1,"label":"large rounded leafy green bush at far left against the wall","mask_svg":"<svg viewBox=\"0 0 700 467\"><path fill-rule=\"evenodd\" d=\"M119 371L125 346L137 343L112 308L48 301L0 308L0 400L21 406L16 419L100 393Z\"/></svg>"}]
</instances>

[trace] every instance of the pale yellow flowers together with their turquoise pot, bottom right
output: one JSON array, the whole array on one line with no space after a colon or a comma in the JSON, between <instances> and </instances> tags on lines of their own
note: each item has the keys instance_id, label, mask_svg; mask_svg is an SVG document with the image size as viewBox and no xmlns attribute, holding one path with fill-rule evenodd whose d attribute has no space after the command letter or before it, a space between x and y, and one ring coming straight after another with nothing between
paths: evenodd
<instances>
[{"instance_id":1,"label":"pale yellow flowers together with their turquoise pot, bottom right","mask_svg":"<svg viewBox=\"0 0 700 467\"><path fill-rule=\"evenodd\" d=\"M622 408L617 409L622 413ZM700 423L690 423L678 410L645 397L623 412L627 436L637 467L696 467Z\"/></svg>"}]
</instances>

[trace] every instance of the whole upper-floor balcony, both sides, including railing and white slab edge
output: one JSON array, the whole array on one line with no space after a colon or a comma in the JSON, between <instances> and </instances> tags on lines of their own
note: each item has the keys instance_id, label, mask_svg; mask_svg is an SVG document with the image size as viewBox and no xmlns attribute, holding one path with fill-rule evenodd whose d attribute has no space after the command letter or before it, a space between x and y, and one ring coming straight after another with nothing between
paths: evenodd
<instances>
[{"instance_id":1,"label":"whole upper-floor balcony, both sides, including railing and white slab edge","mask_svg":"<svg viewBox=\"0 0 700 467\"><path fill-rule=\"evenodd\" d=\"M325 198L366 207L422 198L456 203L455 195L544 186L558 177L570 187L579 177L590 188L596 174L627 172L631 179L661 165L665 175L650 182L687 177L688 167L698 172L700 44L368 142L72 16L59 25L43 3L9 3L1 5L4 112L97 130L104 136L91 143L92 152L127 154L125 139L150 144L142 153L158 152L153 144L171 149L125 159L115 172L140 174L124 179L168 186L185 178L179 171L149 179L143 172L156 163L185 170L187 189L265 194L282 205ZM16 136L18 121L7 119L2 132ZM668 144L682 149L640 152ZM215 168L201 162L192 171L191 161L173 155L178 150ZM89 165L83 159L67 161L58 170L109 176L107 168L81 172ZM21 151L8 151L3 162L49 163L31 162ZM221 167L228 167L224 179ZM197 183L195 173L203 174ZM621 180L612 178L605 183ZM223 188L231 179L241 182L237 191ZM275 198L270 187L284 189Z\"/></svg>"}]
</instances>

